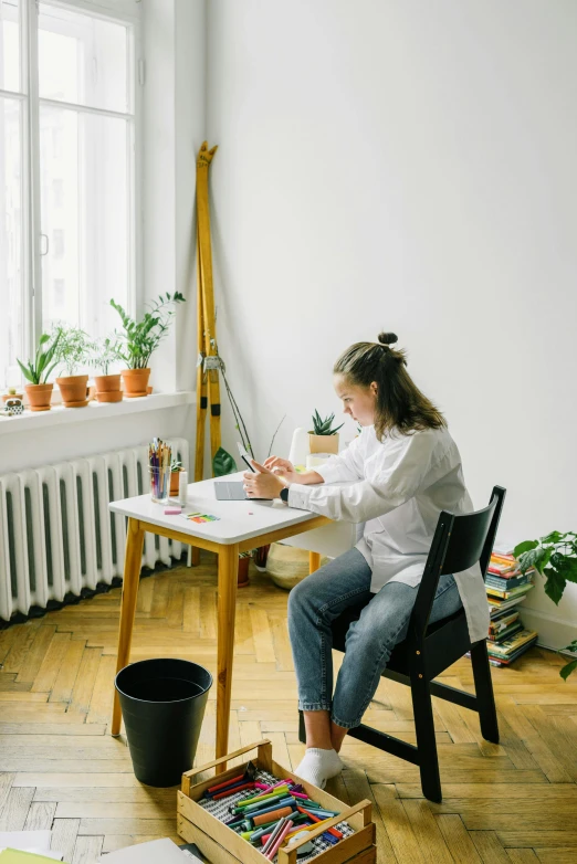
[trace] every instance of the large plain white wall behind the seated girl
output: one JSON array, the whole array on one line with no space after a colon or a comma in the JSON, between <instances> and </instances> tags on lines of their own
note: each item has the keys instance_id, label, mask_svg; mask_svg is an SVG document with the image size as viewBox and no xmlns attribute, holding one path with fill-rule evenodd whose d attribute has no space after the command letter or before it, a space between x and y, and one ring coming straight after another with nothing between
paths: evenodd
<instances>
[{"instance_id":1,"label":"large plain white wall behind the seated girl","mask_svg":"<svg viewBox=\"0 0 577 864\"><path fill-rule=\"evenodd\" d=\"M335 358L394 329L475 505L506 486L502 536L575 529L577 4L211 0L208 30L219 340L255 453L338 412ZM566 593L526 603L545 644Z\"/></svg>"}]
</instances>

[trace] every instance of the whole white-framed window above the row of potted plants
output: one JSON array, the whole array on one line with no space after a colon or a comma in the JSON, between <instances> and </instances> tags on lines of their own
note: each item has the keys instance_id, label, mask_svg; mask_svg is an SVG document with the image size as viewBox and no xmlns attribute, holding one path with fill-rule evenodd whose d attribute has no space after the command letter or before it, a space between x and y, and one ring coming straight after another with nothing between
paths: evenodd
<instances>
[{"instance_id":1,"label":"whole white-framed window above the row of potted plants","mask_svg":"<svg viewBox=\"0 0 577 864\"><path fill-rule=\"evenodd\" d=\"M136 22L106 3L0 0L0 387L54 323L134 310Z\"/></svg>"}]
</instances>

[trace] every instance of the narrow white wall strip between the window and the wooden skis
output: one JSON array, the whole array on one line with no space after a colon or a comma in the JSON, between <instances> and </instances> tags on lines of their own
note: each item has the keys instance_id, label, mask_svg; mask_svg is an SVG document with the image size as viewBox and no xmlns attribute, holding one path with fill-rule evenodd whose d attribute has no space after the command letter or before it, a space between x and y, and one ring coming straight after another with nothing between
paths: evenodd
<instances>
[{"instance_id":1,"label":"narrow white wall strip between the window and the wooden skis","mask_svg":"<svg viewBox=\"0 0 577 864\"><path fill-rule=\"evenodd\" d=\"M145 0L144 301L180 291L177 326L154 356L161 390L196 382L196 154L206 129L204 0Z\"/></svg>"}]
</instances>

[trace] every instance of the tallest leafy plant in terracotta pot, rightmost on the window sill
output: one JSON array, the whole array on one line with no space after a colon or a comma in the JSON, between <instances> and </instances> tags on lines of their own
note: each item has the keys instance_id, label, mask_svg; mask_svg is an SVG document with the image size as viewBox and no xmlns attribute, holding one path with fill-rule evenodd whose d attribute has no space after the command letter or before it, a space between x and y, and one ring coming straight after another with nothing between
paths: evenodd
<instances>
[{"instance_id":1,"label":"tallest leafy plant in terracotta pot, rightmost on the window sill","mask_svg":"<svg viewBox=\"0 0 577 864\"><path fill-rule=\"evenodd\" d=\"M177 303L185 303L185 297L178 291L172 295L168 293L165 296L160 295L144 314L143 319L137 322L118 303L111 301L111 306L116 309L123 323L123 331L118 334L122 341L118 356L128 367L120 372L126 397L147 394L150 377L148 363L153 352L168 333L175 315L172 307Z\"/></svg>"}]
</instances>

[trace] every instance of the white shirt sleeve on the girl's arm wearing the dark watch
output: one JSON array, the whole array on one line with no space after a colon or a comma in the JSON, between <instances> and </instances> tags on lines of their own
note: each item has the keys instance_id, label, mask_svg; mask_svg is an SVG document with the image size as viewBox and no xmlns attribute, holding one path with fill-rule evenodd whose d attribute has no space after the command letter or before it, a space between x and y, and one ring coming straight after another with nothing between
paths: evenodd
<instances>
[{"instance_id":1,"label":"white shirt sleeve on the girl's arm wearing the dark watch","mask_svg":"<svg viewBox=\"0 0 577 864\"><path fill-rule=\"evenodd\" d=\"M370 481L347 486L293 483L288 488L288 505L329 519L353 523L375 519L400 507L434 482L432 468L443 455L439 453L434 434L429 430L416 432L384 449L382 462Z\"/></svg>"}]
</instances>

